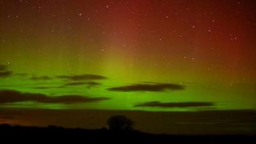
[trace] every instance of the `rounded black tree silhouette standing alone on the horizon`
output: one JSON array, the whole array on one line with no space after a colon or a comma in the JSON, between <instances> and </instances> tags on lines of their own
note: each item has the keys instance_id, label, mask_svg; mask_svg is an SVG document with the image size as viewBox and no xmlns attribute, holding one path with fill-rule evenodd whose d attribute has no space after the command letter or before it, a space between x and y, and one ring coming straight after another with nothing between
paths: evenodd
<instances>
[{"instance_id":1,"label":"rounded black tree silhouette standing alone on the horizon","mask_svg":"<svg viewBox=\"0 0 256 144\"><path fill-rule=\"evenodd\" d=\"M114 115L108 119L108 127L113 131L131 131L134 122L124 115Z\"/></svg>"}]
</instances>

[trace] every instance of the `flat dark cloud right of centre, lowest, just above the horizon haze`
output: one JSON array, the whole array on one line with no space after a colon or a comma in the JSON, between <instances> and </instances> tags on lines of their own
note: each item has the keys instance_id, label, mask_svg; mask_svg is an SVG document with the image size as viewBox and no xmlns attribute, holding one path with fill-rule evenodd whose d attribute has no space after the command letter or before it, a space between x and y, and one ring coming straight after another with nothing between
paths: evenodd
<instances>
[{"instance_id":1,"label":"flat dark cloud right of centre, lowest, just above the horizon haze","mask_svg":"<svg viewBox=\"0 0 256 144\"><path fill-rule=\"evenodd\" d=\"M205 107L215 106L213 102L141 102L134 107L162 107L162 108L188 108L188 107Z\"/></svg>"}]
</instances>

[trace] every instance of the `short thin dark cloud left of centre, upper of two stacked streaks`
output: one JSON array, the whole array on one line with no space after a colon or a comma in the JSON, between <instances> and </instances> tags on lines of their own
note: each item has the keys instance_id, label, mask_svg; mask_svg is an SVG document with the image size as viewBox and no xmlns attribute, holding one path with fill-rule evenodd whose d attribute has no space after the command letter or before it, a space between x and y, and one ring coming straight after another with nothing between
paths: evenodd
<instances>
[{"instance_id":1,"label":"short thin dark cloud left of centre, upper of two stacked streaks","mask_svg":"<svg viewBox=\"0 0 256 144\"><path fill-rule=\"evenodd\" d=\"M99 76L95 74L82 74L82 75L71 75L71 76L57 76L60 79L68 79L72 81L88 81L88 80L100 80L107 79L107 77Z\"/></svg>"}]
</instances>

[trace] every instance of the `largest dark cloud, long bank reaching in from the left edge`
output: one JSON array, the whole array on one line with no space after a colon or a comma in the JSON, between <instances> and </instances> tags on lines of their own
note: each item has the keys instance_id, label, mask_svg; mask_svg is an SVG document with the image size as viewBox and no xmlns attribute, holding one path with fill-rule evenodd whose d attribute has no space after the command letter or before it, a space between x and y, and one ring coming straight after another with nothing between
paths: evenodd
<instances>
[{"instance_id":1,"label":"largest dark cloud, long bank reaching in from the left edge","mask_svg":"<svg viewBox=\"0 0 256 144\"><path fill-rule=\"evenodd\" d=\"M1 90L0 91L0 104L8 102L25 102L34 101L42 103L65 103L72 104L78 102L99 102L108 100L106 97L85 97L81 95L61 95L51 97L40 93L20 93L14 90Z\"/></svg>"}]
</instances>

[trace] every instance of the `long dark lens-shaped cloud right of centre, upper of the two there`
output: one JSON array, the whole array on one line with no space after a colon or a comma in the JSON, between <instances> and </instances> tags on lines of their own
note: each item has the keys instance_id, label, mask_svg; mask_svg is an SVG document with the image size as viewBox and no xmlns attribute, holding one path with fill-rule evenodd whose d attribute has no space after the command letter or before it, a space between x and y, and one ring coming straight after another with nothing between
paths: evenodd
<instances>
[{"instance_id":1,"label":"long dark lens-shaped cloud right of centre, upper of the two there","mask_svg":"<svg viewBox=\"0 0 256 144\"><path fill-rule=\"evenodd\" d=\"M119 86L114 88L108 88L110 91L120 92L164 92L164 90L184 90L185 86L172 83L152 83L152 84L131 84L127 86Z\"/></svg>"}]
</instances>

